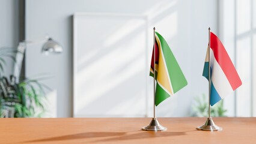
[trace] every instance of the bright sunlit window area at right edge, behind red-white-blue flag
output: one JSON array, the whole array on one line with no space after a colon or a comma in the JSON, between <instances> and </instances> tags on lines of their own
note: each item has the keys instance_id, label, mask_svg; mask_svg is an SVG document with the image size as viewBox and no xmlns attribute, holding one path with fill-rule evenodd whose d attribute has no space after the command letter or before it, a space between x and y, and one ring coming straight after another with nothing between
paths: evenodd
<instances>
[{"instance_id":1,"label":"bright sunlit window area at right edge, behind red-white-blue flag","mask_svg":"<svg viewBox=\"0 0 256 144\"><path fill-rule=\"evenodd\" d=\"M242 80L242 85L224 99L227 116L256 116L255 46L253 30L255 1L220 1L220 36ZM256 38L256 37L255 37Z\"/></svg>"}]
</instances>

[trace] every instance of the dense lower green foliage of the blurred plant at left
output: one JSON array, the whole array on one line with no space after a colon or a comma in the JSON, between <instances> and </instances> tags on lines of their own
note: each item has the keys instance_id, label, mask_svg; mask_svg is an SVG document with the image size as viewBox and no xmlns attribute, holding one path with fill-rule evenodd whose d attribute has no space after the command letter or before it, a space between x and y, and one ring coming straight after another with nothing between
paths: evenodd
<instances>
[{"instance_id":1,"label":"dense lower green foliage of the blurred plant at left","mask_svg":"<svg viewBox=\"0 0 256 144\"><path fill-rule=\"evenodd\" d=\"M26 79L23 82L15 83L6 77L0 78L0 91L5 91L7 95L2 99L0 96L0 100L4 101L2 103L8 101L8 103L15 104L13 106L14 117L34 117L36 116L35 110L43 113L45 111L43 101L46 100L44 89L46 87L36 79ZM0 110L3 110L1 103L0 107Z\"/></svg>"}]
</instances>

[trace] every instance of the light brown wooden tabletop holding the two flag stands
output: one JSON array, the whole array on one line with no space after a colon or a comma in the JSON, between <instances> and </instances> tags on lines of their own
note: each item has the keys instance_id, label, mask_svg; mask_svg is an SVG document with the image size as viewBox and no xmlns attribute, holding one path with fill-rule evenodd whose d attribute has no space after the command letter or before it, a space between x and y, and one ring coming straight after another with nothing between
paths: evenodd
<instances>
[{"instance_id":1,"label":"light brown wooden tabletop holding the two flag stands","mask_svg":"<svg viewBox=\"0 0 256 144\"><path fill-rule=\"evenodd\" d=\"M0 119L0 143L256 143L256 118L213 118L223 131L198 131L206 118L158 118L167 131L141 131L151 118Z\"/></svg>"}]
</instances>

